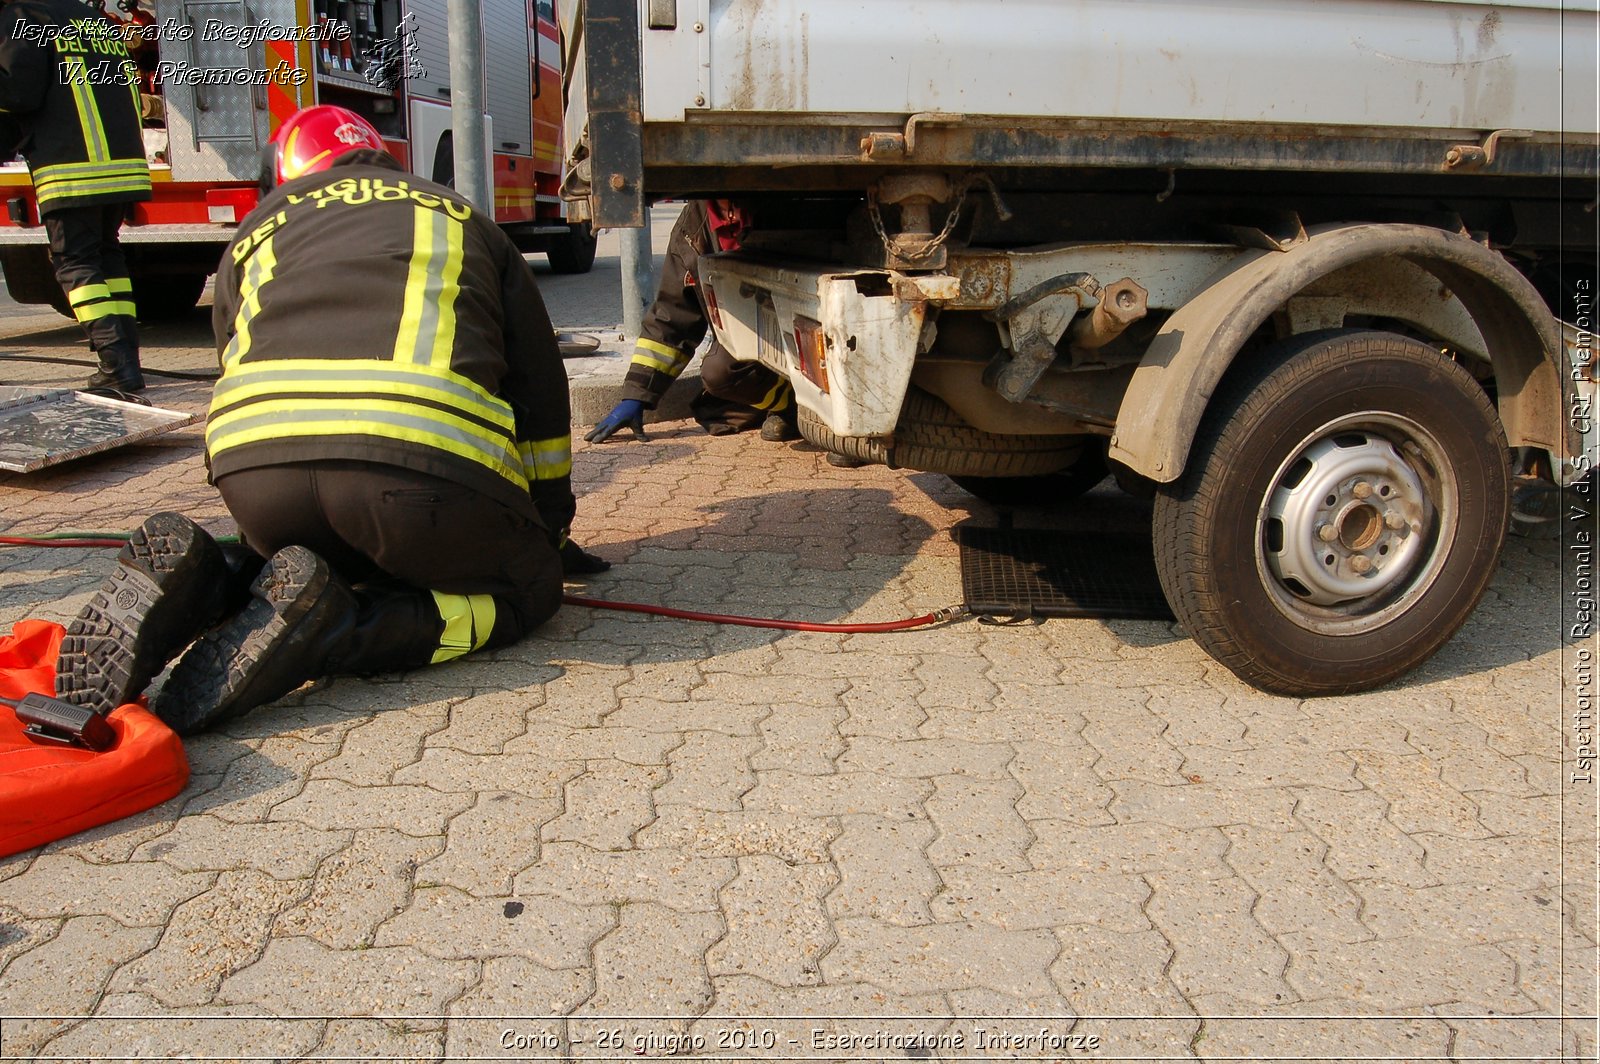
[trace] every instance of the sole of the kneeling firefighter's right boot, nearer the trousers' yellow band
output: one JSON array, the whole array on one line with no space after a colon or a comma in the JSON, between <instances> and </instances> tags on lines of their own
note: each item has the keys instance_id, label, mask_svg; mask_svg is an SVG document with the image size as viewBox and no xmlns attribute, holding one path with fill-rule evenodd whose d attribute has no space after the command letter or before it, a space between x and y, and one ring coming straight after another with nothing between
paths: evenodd
<instances>
[{"instance_id":1,"label":"sole of the kneeling firefighter's right boot, nearer the trousers' yellow band","mask_svg":"<svg viewBox=\"0 0 1600 1064\"><path fill-rule=\"evenodd\" d=\"M250 586L250 603L195 642L173 667L155 698L155 715L178 734L192 734L272 701L245 704L250 682L326 589L326 562L306 547L278 550Z\"/></svg>"}]
</instances>

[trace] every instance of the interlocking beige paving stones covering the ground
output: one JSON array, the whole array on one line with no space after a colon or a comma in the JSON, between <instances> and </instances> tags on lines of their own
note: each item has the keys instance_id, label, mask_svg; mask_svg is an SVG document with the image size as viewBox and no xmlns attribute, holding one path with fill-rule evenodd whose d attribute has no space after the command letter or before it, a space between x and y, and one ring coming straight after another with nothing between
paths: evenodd
<instances>
[{"instance_id":1,"label":"interlocking beige paving stones covering the ground","mask_svg":"<svg viewBox=\"0 0 1600 1064\"><path fill-rule=\"evenodd\" d=\"M211 366L198 323L147 342ZM16 352L83 355L8 307ZM912 616L960 600L950 526L997 518L688 422L574 466L606 598ZM198 429L0 475L0 533L157 509L230 531ZM1144 534L1109 486L1018 522ZM0 630L114 563L0 557ZM173 802L0 861L0 1056L1592 1061L1565 557L1512 541L1461 635L1357 698L1259 694L1157 622L584 608L315 685L194 739Z\"/></svg>"}]
</instances>

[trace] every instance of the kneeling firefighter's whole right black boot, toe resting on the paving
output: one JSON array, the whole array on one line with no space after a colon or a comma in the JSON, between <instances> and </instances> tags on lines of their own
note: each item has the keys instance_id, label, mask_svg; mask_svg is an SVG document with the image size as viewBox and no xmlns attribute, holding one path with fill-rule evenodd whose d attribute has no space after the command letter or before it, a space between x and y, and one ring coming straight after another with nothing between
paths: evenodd
<instances>
[{"instance_id":1,"label":"kneeling firefighter's whole right black boot, toe resting on the paving","mask_svg":"<svg viewBox=\"0 0 1600 1064\"><path fill-rule=\"evenodd\" d=\"M355 611L350 589L306 547L283 547L251 600L173 666L152 710L178 734L238 717L323 675L328 632Z\"/></svg>"}]
</instances>

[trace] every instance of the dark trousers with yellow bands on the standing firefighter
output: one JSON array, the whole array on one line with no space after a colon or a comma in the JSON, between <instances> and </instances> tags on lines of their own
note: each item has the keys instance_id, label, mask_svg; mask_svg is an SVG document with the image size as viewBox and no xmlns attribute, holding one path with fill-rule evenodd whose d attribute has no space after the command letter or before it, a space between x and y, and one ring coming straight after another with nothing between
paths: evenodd
<instances>
[{"instance_id":1,"label":"dark trousers with yellow bands on the standing firefighter","mask_svg":"<svg viewBox=\"0 0 1600 1064\"><path fill-rule=\"evenodd\" d=\"M101 370L131 378L139 370L139 333L128 261L117 237L125 206L94 203L51 211L45 214L45 234L56 280Z\"/></svg>"}]
</instances>

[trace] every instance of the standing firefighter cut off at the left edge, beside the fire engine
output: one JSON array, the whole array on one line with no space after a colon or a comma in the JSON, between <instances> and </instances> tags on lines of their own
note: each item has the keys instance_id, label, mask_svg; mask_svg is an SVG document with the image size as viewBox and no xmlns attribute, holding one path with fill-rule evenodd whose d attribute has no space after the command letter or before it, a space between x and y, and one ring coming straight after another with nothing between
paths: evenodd
<instances>
[{"instance_id":1,"label":"standing firefighter cut off at the left edge, beside the fire engine","mask_svg":"<svg viewBox=\"0 0 1600 1064\"><path fill-rule=\"evenodd\" d=\"M90 387L138 392L133 285L118 243L150 198L139 77L122 30L78 0L0 6L0 110L21 130L56 280L99 360Z\"/></svg>"}]
</instances>

